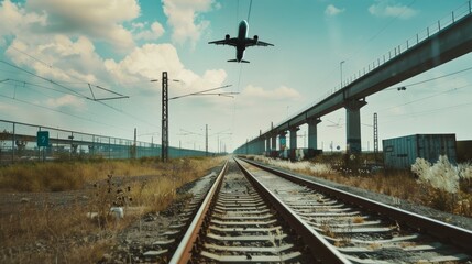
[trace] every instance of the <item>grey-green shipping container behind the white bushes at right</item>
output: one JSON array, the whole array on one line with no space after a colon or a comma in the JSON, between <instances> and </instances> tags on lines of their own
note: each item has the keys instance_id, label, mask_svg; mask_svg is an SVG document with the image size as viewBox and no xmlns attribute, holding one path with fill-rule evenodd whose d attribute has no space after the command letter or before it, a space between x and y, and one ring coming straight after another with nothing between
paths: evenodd
<instances>
[{"instance_id":1,"label":"grey-green shipping container behind the white bushes at right","mask_svg":"<svg viewBox=\"0 0 472 264\"><path fill-rule=\"evenodd\" d=\"M457 163L455 134L414 134L382 141L385 168L410 168L417 157L436 163L447 155Z\"/></svg>"}]
</instances>

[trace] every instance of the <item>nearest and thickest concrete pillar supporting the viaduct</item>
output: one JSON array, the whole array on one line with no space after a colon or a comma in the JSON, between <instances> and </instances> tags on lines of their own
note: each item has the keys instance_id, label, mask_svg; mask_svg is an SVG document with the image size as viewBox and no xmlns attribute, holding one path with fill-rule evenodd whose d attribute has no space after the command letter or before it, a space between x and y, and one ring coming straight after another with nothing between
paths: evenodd
<instances>
[{"instance_id":1,"label":"nearest and thickest concrete pillar supporting the viaduct","mask_svg":"<svg viewBox=\"0 0 472 264\"><path fill-rule=\"evenodd\" d=\"M348 153L361 153L361 108L367 105L365 98L345 105L345 129Z\"/></svg>"}]
</instances>

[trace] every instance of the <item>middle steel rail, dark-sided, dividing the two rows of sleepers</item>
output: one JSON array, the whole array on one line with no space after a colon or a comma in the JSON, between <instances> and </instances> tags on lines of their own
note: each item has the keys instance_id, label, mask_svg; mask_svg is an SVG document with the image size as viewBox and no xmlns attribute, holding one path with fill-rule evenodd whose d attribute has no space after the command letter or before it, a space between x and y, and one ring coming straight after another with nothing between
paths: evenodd
<instances>
[{"instance_id":1,"label":"middle steel rail, dark-sided, dividing the two rows of sleepers","mask_svg":"<svg viewBox=\"0 0 472 264\"><path fill-rule=\"evenodd\" d=\"M246 168L244 168L240 160L234 158L238 166L253 183L261 196L263 196L277 212L288 222L289 227L301 237L304 243L308 246L311 255L321 263L351 263L345 258L333 245L326 241L322 235L314 230L306 221L300 219L289 207L287 207L279 198L270 191L263 184L261 184Z\"/></svg>"}]
</instances>

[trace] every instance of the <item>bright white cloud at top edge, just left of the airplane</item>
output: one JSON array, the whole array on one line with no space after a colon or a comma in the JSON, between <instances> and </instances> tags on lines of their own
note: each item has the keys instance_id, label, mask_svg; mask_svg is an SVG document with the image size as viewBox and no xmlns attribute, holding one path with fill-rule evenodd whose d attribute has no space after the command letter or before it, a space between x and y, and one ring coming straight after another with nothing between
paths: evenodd
<instances>
[{"instance_id":1,"label":"bright white cloud at top edge, just left of the airplane","mask_svg":"<svg viewBox=\"0 0 472 264\"><path fill-rule=\"evenodd\" d=\"M178 44L189 41L195 45L209 25L209 21L197 20L197 16L210 11L213 0L163 0L163 4L167 23L173 28L172 40Z\"/></svg>"}]
</instances>

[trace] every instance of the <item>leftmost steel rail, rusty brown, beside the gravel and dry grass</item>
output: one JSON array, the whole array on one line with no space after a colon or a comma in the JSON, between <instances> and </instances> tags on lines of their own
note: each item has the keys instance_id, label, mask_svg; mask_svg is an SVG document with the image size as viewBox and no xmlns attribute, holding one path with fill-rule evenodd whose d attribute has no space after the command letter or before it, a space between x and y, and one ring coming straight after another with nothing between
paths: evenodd
<instances>
[{"instance_id":1,"label":"leftmost steel rail, rusty brown, beside the gravel and dry grass","mask_svg":"<svg viewBox=\"0 0 472 264\"><path fill-rule=\"evenodd\" d=\"M205 217L207 216L208 209L210 208L211 201L213 200L215 195L218 193L218 189L221 187L222 178L227 169L228 169L228 161L224 163L220 174L215 180L213 186L211 186L210 190L208 191L207 196L201 202L201 206L198 209L197 215L195 216L194 220L191 221L190 226L185 232L169 263L173 263L173 264L188 263L190 261L191 253L193 253L191 250L194 244L196 244L196 241L199 234L199 232L197 231L200 230L204 223Z\"/></svg>"}]
</instances>

